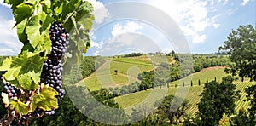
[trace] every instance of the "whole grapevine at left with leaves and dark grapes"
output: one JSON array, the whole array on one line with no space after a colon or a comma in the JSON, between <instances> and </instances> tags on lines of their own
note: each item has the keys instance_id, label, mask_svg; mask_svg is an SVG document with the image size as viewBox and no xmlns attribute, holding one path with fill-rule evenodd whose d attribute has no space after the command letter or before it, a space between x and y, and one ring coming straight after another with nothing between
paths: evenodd
<instances>
[{"instance_id":1,"label":"whole grapevine at left with leaves and dark grapes","mask_svg":"<svg viewBox=\"0 0 256 126\"><path fill-rule=\"evenodd\" d=\"M57 97L63 98L65 94L63 66L69 66L66 54L79 61L76 57L90 47L88 31L94 20L93 8L84 0L4 3L11 5L17 34L24 46L18 56L3 60L0 66L0 72L5 72L0 78L6 89L2 93L3 103L9 110L0 125L9 125L14 118L18 125L27 125L28 118L53 115L59 107Z\"/></svg>"}]
</instances>

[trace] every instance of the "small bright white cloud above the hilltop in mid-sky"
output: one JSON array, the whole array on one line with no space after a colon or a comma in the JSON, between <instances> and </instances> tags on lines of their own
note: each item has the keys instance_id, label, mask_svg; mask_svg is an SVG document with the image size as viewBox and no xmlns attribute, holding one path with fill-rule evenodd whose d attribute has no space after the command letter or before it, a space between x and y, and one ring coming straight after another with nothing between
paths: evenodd
<instances>
[{"instance_id":1,"label":"small bright white cloud above the hilltop in mid-sky","mask_svg":"<svg viewBox=\"0 0 256 126\"><path fill-rule=\"evenodd\" d=\"M119 23L113 26L113 30L111 31L111 34L114 36L117 36L119 34L124 33L139 33L138 31L143 29L143 26L141 24L138 24L134 21L128 21L125 25L120 25Z\"/></svg>"}]
</instances>

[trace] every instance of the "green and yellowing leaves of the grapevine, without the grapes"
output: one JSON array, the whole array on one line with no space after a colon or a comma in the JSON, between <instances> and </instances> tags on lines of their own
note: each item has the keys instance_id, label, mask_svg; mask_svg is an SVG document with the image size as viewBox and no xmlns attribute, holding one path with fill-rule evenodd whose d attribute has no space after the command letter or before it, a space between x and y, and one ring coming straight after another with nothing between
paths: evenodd
<instances>
[{"instance_id":1,"label":"green and yellowing leaves of the grapevine, without the grapes","mask_svg":"<svg viewBox=\"0 0 256 126\"><path fill-rule=\"evenodd\" d=\"M11 5L19 40L24 44L18 56L3 60L0 66L0 71L7 71L3 74L4 81L22 92L19 98L6 97L4 102L20 116L37 107L47 111L58 108L57 92L40 80L43 63L51 51L49 28L53 22L61 22L72 33L73 50L69 53L77 60L76 57L90 47L92 5L84 0L4 0L4 3Z\"/></svg>"}]
</instances>

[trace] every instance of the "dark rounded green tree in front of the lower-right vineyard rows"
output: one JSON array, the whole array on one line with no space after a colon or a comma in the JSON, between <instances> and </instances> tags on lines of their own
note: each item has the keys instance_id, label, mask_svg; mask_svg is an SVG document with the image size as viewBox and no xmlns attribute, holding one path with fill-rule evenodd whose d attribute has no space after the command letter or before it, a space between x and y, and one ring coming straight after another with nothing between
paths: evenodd
<instances>
[{"instance_id":1,"label":"dark rounded green tree in front of the lower-right vineyard rows","mask_svg":"<svg viewBox=\"0 0 256 126\"><path fill-rule=\"evenodd\" d=\"M201 125L218 125L224 114L229 116L235 112L235 101L239 98L236 85L229 81L206 83L198 103Z\"/></svg>"}]
</instances>

